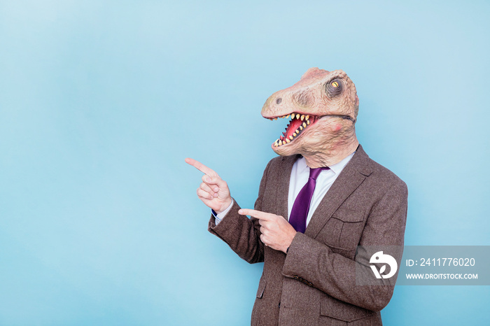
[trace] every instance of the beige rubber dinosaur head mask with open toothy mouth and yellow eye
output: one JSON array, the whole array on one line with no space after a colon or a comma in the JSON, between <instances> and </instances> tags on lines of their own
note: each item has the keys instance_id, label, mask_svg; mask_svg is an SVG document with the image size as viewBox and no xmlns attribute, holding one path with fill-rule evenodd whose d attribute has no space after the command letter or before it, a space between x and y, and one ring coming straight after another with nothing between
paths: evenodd
<instances>
[{"instance_id":1,"label":"beige rubber dinosaur head mask with open toothy mouth and yellow eye","mask_svg":"<svg viewBox=\"0 0 490 326\"><path fill-rule=\"evenodd\" d=\"M272 94L262 116L289 120L286 132L272 143L274 152L301 154L310 167L318 167L356 150L358 108L356 86L344 71L310 68L293 86Z\"/></svg>"}]
</instances>

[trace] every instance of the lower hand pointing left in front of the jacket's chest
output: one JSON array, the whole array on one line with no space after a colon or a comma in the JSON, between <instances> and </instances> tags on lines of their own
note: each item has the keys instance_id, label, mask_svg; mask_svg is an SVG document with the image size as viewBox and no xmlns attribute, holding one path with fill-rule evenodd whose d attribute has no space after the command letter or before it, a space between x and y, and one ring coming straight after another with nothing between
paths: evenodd
<instances>
[{"instance_id":1,"label":"lower hand pointing left in front of the jacket's chest","mask_svg":"<svg viewBox=\"0 0 490 326\"><path fill-rule=\"evenodd\" d=\"M260 240L274 250L281 250L286 253L286 250L293 242L296 230L293 225L290 225L282 216L255 211L253 209L240 209L241 215L250 215L258 218L260 223Z\"/></svg>"}]
</instances>

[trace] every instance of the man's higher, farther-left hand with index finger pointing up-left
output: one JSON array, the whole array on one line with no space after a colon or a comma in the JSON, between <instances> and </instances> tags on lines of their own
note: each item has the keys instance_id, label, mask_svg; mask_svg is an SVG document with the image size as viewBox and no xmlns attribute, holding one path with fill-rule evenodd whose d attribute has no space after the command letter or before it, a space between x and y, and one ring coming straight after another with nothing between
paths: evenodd
<instances>
[{"instance_id":1,"label":"man's higher, farther-left hand with index finger pointing up-left","mask_svg":"<svg viewBox=\"0 0 490 326\"><path fill-rule=\"evenodd\" d=\"M197 188L197 197L216 213L225 211L232 204L228 184L218 176L218 173L209 169L204 164L190 158L186 158L186 163L204 173L202 183Z\"/></svg>"}]
</instances>

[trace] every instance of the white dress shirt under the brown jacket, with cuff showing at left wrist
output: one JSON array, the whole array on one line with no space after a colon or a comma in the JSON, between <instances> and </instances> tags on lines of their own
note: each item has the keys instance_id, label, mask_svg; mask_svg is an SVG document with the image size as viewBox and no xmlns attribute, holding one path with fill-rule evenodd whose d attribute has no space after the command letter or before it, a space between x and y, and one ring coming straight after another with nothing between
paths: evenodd
<instances>
[{"instance_id":1,"label":"white dress shirt under the brown jacket, with cuff showing at left wrist","mask_svg":"<svg viewBox=\"0 0 490 326\"><path fill-rule=\"evenodd\" d=\"M320 204L321 199L323 199L323 196L325 196L325 194L328 192L328 190L334 183L335 179L337 179L337 176L339 176L340 172L342 172L346 164L349 163L354 153L347 156L346 158L344 158L344 160L338 162L337 164L333 164L329 166L330 169L321 171L318 178L316 178L315 190L313 192L313 197L311 197L311 202L309 204L307 225L311 220L311 216L313 215L314 211ZM302 190L302 187L306 185L306 183L308 182L308 178L309 178L309 166L307 165L304 157L301 157L299 160L295 162L295 164L293 164L293 169L291 170L291 176L289 179L288 220L289 220L289 215L291 214L291 210L293 209L293 204L297 197L297 194L299 194L300 190ZM213 213L216 224L221 222L221 220L225 217L226 213L228 213L228 211L230 211L230 209L232 208L232 205L233 205L233 201L232 204L230 204L230 206L228 206L228 208L225 209L225 211L219 214Z\"/></svg>"}]
</instances>

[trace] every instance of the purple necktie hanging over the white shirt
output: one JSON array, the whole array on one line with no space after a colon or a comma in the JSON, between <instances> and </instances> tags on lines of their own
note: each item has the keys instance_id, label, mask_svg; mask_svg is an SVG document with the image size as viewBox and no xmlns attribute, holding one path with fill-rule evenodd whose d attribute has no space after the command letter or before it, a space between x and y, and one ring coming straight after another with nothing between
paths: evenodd
<instances>
[{"instance_id":1,"label":"purple necktie hanging over the white shirt","mask_svg":"<svg viewBox=\"0 0 490 326\"><path fill-rule=\"evenodd\" d=\"M311 197L313 197L313 192L315 190L316 178L320 175L321 170L328 170L327 167L318 167L316 169L309 169L308 182L300 193L297 194L296 200L293 204L293 209L291 210L291 215L289 217L290 225L293 225L297 232L304 233L306 229L306 220L309 211L309 202Z\"/></svg>"}]
</instances>

